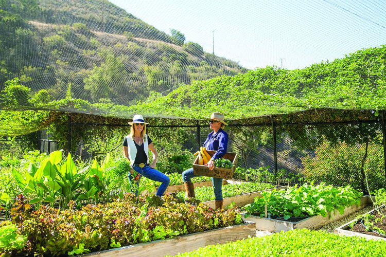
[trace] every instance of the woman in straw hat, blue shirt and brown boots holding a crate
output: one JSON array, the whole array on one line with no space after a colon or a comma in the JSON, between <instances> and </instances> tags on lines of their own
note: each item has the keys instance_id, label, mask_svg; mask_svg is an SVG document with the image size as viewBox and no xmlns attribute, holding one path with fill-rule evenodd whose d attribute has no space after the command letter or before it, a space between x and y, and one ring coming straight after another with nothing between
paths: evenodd
<instances>
[{"instance_id":1,"label":"woman in straw hat, blue shirt and brown boots holding a crate","mask_svg":"<svg viewBox=\"0 0 386 257\"><path fill-rule=\"evenodd\" d=\"M217 151L212 158L208 161L209 170L213 170L215 167L214 160L222 158L226 153L226 148L228 145L228 134L223 131L225 125L224 115L222 113L213 113L210 115L209 127L213 132L208 134L203 146L207 150ZM185 191L187 197L195 197L195 190L193 183L191 182L192 177L195 176L193 173L193 168L190 168L182 173L182 180L184 181ZM222 200L222 178L212 178L213 191L215 193L215 206L216 209L223 209L223 200Z\"/></svg>"}]
</instances>

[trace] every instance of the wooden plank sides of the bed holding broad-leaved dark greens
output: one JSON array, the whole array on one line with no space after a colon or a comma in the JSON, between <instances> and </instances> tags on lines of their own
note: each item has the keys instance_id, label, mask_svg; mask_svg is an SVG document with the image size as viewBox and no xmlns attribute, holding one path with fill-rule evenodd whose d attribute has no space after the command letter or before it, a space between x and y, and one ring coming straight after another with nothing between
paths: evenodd
<instances>
[{"instance_id":1,"label":"wooden plank sides of the bed holding broad-leaved dark greens","mask_svg":"<svg viewBox=\"0 0 386 257\"><path fill-rule=\"evenodd\" d=\"M338 219L344 218L371 204L372 201L370 197L365 195L361 198L359 206L354 204L352 206L346 207L343 214L340 214L338 210L335 210L335 214L334 212L331 212L331 214L328 214L326 217L323 217L322 215L316 215L302 219L302 221L299 222L288 222L273 218L261 218L254 215L243 219L244 221L255 222L257 230L267 230L270 232L289 231L296 228L307 228L312 230L327 225L328 223L338 221Z\"/></svg>"}]
</instances>

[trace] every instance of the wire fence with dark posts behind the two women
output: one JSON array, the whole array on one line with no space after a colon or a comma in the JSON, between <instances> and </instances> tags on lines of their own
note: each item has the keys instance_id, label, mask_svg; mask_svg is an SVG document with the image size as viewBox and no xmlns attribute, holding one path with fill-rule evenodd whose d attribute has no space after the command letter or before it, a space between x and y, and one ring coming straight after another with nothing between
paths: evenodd
<instances>
[{"instance_id":1,"label":"wire fence with dark posts behind the two women","mask_svg":"<svg viewBox=\"0 0 386 257\"><path fill-rule=\"evenodd\" d=\"M326 182L336 186L352 185L368 192L386 186L384 134L382 120L314 124L230 125L227 152L239 156L239 167L268 170L280 183ZM80 127L82 126L82 127ZM96 128L103 127L103 133ZM109 152L121 154L128 125L70 123L69 130L83 130L82 137L69 137L74 156L95 158ZM159 156L196 152L211 132L208 125L148 126ZM44 134L44 133L43 133ZM40 135L40 134L39 134ZM73 140L73 142L71 141ZM49 136L40 137L40 150L57 150ZM169 171L173 172L173 171Z\"/></svg>"}]
</instances>

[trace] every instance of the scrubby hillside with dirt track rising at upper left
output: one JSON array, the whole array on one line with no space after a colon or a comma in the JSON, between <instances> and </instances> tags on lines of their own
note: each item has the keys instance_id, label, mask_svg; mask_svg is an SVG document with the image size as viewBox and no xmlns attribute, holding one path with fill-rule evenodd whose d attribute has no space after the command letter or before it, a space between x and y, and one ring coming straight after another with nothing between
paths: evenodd
<instances>
[{"instance_id":1,"label":"scrubby hillside with dirt track rising at upper left","mask_svg":"<svg viewBox=\"0 0 386 257\"><path fill-rule=\"evenodd\" d=\"M101 0L0 2L0 89L18 77L31 94L47 90L50 100L70 92L129 106L151 91L166 95L194 80L246 71L198 44L173 44L172 36L108 1L102 26L101 6Z\"/></svg>"}]
</instances>

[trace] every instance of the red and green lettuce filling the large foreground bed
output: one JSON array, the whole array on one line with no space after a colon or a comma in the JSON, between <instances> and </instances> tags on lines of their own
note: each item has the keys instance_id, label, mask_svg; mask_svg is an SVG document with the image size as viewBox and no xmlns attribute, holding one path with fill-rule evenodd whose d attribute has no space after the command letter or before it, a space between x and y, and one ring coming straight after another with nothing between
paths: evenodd
<instances>
[{"instance_id":1,"label":"red and green lettuce filling the large foreground bed","mask_svg":"<svg viewBox=\"0 0 386 257\"><path fill-rule=\"evenodd\" d=\"M19 196L12 209L12 224L1 224L0 254L15 246L15 231L28 247L17 244L11 256L62 256L174 237L242 223L236 208L214 211L204 205L191 205L173 195L147 199L127 194L112 203L87 205L76 210L41 207L31 212ZM8 226L6 226L8 225ZM8 232L7 232L8 231ZM12 232L12 233L10 233ZM3 235L3 237L1 237ZM20 237L20 236L19 236Z\"/></svg>"}]
</instances>

